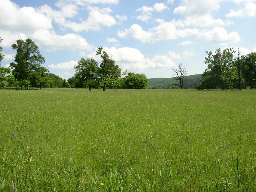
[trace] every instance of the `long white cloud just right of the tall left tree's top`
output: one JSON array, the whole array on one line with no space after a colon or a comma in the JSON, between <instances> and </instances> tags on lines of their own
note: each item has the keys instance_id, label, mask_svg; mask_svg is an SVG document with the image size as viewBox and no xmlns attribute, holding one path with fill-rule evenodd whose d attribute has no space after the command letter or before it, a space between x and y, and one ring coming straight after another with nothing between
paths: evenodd
<instances>
[{"instance_id":1,"label":"long white cloud just right of the tall left tree's top","mask_svg":"<svg viewBox=\"0 0 256 192\"><path fill-rule=\"evenodd\" d=\"M46 30L38 30L31 34L33 40L48 51L55 50L92 50L94 46L87 43L86 39L78 34L68 33L58 35Z\"/></svg>"}]
</instances>

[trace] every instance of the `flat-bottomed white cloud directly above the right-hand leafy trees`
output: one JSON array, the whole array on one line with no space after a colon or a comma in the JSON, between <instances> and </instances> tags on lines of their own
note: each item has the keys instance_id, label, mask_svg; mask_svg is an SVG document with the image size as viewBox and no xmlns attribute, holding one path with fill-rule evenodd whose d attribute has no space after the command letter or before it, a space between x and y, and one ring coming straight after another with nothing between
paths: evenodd
<instances>
[{"instance_id":1,"label":"flat-bottomed white cloud directly above the right-hand leafy trees","mask_svg":"<svg viewBox=\"0 0 256 192\"><path fill-rule=\"evenodd\" d=\"M238 32L228 33L222 27L215 27L210 31L204 31L198 37L218 44L237 43L241 40Z\"/></svg>"}]
</instances>

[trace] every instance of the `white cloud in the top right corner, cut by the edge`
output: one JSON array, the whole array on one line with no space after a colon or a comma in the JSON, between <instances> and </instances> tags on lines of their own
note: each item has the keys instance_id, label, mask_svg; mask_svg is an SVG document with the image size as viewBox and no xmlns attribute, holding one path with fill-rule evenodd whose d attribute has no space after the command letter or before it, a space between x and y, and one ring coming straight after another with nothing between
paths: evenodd
<instances>
[{"instance_id":1,"label":"white cloud in the top right corner, cut by the edge","mask_svg":"<svg viewBox=\"0 0 256 192\"><path fill-rule=\"evenodd\" d=\"M238 2L241 3L241 2ZM238 10L231 9L228 14L226 14L226 17L232 18L232 17L254 17L256 16L256 3L254 1L248 1L244 3L244 7Z\"/></svg>"}]
</instances>

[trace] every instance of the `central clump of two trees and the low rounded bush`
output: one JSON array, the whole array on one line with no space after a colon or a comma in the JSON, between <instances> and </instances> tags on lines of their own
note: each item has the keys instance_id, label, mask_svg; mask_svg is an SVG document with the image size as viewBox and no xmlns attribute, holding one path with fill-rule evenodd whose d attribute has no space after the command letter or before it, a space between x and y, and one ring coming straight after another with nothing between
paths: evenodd
<instances>
[{"instance_id":1,"label":"central clump of two trees and the low rounded bush","mask_svg":"<svg viewBox=\"0 0 256 192\"><path fill-rule=\"evenodd\" d=\"M68 79L75 88L103 89L146 89L148 87L148 78L145 74L133 72L124 72L115 65L115 61L110 55L98 47L96 55L101 57L101 61L92 58L81 58L78 64L74 66L75 74ZM126 74L127 73L127 74ZM121 78L121 75L126 75Z\"/></svg>"}]
</instances>

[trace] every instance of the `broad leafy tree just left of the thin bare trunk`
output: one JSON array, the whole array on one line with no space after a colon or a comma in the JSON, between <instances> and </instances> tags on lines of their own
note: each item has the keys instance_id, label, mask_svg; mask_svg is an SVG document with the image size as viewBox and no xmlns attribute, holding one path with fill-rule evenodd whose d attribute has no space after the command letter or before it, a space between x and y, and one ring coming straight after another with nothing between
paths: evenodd
<instances>
[{"instance_id":1,"label":"broad leafy tree just left of the thin bare trunk","mask_svg":"<svg viewBox=\"0 0 256 192\"><path fill-rule=\"evenodd\" d=\"M206 53L207 68L202 74L202 80L197 89L232 89L238 77L237 70L233 68L233 53L235 53L233 48L223 51L217 49L215 54L211 51Z\"/></svg>"}]
</instances>

